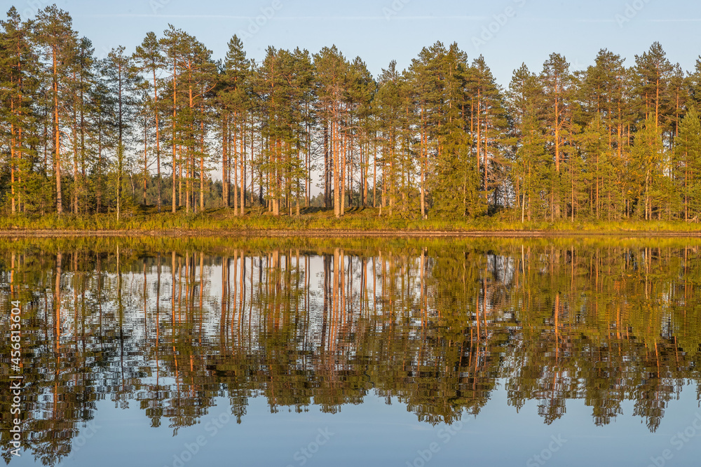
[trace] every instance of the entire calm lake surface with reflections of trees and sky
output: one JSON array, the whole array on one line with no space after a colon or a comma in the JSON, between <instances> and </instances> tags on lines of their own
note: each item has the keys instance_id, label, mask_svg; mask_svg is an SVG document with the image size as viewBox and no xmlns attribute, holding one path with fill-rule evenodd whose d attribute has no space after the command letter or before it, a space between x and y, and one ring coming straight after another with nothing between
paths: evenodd
<instances>
[{"instance_id":1,"label":"entire calm lake surface with reflections of trees and sky","mask_svg":"<svg viewBox=\"0 0 701 467\"><path fill-rule=\"evenodd\" d=\"M700 463L698 239L8 239L0 263L11 466Z\"/></svg>"}]
</instances>

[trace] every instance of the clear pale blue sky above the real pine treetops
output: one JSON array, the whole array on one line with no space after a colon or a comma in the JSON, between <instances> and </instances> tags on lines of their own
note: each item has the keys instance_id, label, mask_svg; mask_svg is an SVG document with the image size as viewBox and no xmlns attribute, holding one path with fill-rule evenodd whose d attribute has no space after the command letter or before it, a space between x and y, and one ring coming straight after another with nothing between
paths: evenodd
<instances>
[{"instance_id":1,"label":"clear pale blue sky above the real pine treetops","mask_svg":"<svg viewBox=\"0 0 701 467\"><path fill-rule=\"evenodd\" d=\"M48 0L4 1L20 13ZM348 58L359 55L377 75L390 60L407 67L424 46L435 41L446 45L457 42L470 60L480 53L486 58L497 81L508 85L512 71L525 62L540 71L552 52L562 53L583 69L592 64L601 48L619 53L632 64L660 41L672 62L693 69L701 54L701 3L681 0L59 0L60 8L71 13L74 27L88 36L97 55L112 47L128 50L142 41L144 34L161 34L172 23L186 30L223 57L226 43L236 33L246 32L250 18L261 9L274 11L256 34L246 38L250 57L260 60L267 46L306 48L312 53L335 44ZM277 7L277 10L273 8ZM394 6L393 6L394 5ZM507 8L512 14L507 18ZM635 8L637 7L637 9ZM387 13L391 12L391 15ZM503 25L494 15L501 16ZM619 15L617 17L617 15ZM504 20L506 21L504 22ZM625 22L622 20L625 19ZM495 32L477 48L473 38L482 40L483 28ZM254 29L252 29L255 31Z\"/></svg>"}]
</instances>

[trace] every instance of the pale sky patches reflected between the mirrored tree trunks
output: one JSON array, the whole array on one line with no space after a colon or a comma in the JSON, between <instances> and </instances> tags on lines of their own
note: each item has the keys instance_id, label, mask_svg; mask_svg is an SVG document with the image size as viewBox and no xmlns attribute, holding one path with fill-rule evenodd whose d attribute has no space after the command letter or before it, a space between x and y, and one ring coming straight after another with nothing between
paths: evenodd
<instances>
[{"instance_id":1,"label":"pale sky patches reflected between the mirrored tree trunks","mask_svg":"<svg viewBox=\"0 0 701 467\"><path fill-rule=\"evenodd\" d=\"M248 254L248 253L247 253ZM182 257L176 259L176 272L175 272L175 313L185 314L186 309L188 309L187 300L187 282L191 281L190 286L195 286L195 298L194 298L194 309L199 309L199 283L200 279L203 281L203 324L202 330L205 335L218 335L219 334L219 316L222 312L222 289L223 289L223 275L222 275L222 258L214 258L210 256L205 256L203 261L203 270L200 274L200 262L199 254L196 254L191 259L191 267L194 272L191 272L190 278L186 277L186 261ZM521 258L498 256L493 253L488 253L485 255L485 274L491 274L501 286L509 288L512 286L515 268L517 262ZM375 274L372 272L373 258L366 258L366 269L365 269L365 280L366 280L366 291L363 295L370 297L369 307L376 314L383 314L384 310L381 305L372 300L372 295L376 291L377 295L383 295L383 284L382 284L382 265L386 267L386 271L390 270L390 260L387 256L383 258L376 257L375 261ZM543 262L543 267L540 269L542 274L547 273L548 262L550 259L547 255L543 254L540 260ZM151 263L155 263L155 258L151 258ZM172 270L170 268L171 257L168 253L161 254L161 297L158 302L158 310L156 309L156 282L158 279L158 267L154 264L147 268L144 275L144 271L141 269L141 265L135 266L135 269L129 270L128 265L123 265L122 269L122 304L125 309L123 328L125 331L134 339L134 342L144 340L146 337L146 323L148 321L150 337L154 337L154 321L156 319L156 314L158 313L158 320L161 326L169 326L172 319ZM254 298L260 291L259 277L261 270L263 270L263 277L266 277L266 271L268 270L268 258L266 256L246 256L244 258L244 291L245 291L245 302L250 304L251 294ZM306 267L308 265L308 270ZM402 283L401 274L395 276L395 290L399 291L404 288L405 291L409 291L411 295L414 296L413 300L418 300L418 296L421 295L421 279L419 277L418 271L421 268L420 258L411 258L408 268L409 281L407 284ZM285 256L285 252L280 253L278 266L280 271L285 270L287 267L290 268L292 272L297 270L297 256L293 251L292 256L290 256L289 263ZM333 264L330 265L333 271ZM179 268L179 269L178 269ZM351 271L352 270L352 271ZM403 270L403 269L402 269ZM433 260L426 257L426 279L431 277L431 272L433 270ZM300 288L304 289L305 281L308 280L309 284L309 333L308 337L311 337L315 341L321 339L321 327L323 321L323 298L324 298L324 259L321 256L308 256L307 263L305 263L304 253L300 252L299 256L299 271L301 272L299 283ZM360 258L357 256L344 256L344 274L346 278L349 272L353 274L353 284L351 286L351 295L348 295L348 303L353 307L354 312L360 310L360 276L362 270L360 267ZM79 273L79 276L82 273ZM236 274L236 276L234 275ZM229 308L233 306L234 300L236 303L240 304L242 297L240 291L240 275L242 274L242 260L240 255L237 258L229 258ZM308 278L306 276L308 274ZM116 314L117 302L114 296L114 290L116 289L117 276L114 271L103 272L104 277L104 290L111 291L109 295L109 300L103 300L102 308L105 313ZM388 276L389 277L389 276ZM390 283L386 277L385 286L390 287ZM333 281L329 277L329 281ZM76 302L75 296L76 292L72 286L76 283L74 273L67 270L67 267L63 268L62 272L62 293L61 293L61 309L62 313L62 342L72 342L74 340L74 330L75 323L74 319L76 313L74 312ZM80 283L80 282L79 282ZM144 298L144 287L146 288L146 296ZM263 286L265 289L266 286ZM85 291L85 297L88 302L91 300L97 302L97 295L95 293L96 286L93 284L92 288L88 287ZM104 292L103 292L104 293ZM79 292L81 294L81 292ZM587 292L582 292L583 297L587 297ZM180 302L179 302L180 300ZM622 298L625 301L625 297ZM585 298L583 302L583 313L585 312L585 305L587 303ZM662 291L660 293L660 298L657 300L658 306L662 309L667 309L672 304L672 297L667 291ZM512 319L515 314L517 314L517 309L510 307L494 307L491 300L482 299L480 309L487 309L489 312L492 310L496 311L496 316L491 316L490 319ZM437 314L438 310L433 306L433 301L428 302L428 311ZM90 321L93 322L93 326L97 326L97 320L99 316L93 314L86 318L86 326ZM252 314L247 316L244 314L243 321L247 323L247 319L251 320L252 324L252 335L250 338L252 342L257 342L259 337L259 331L261 326L259 326L259 314ZM421 328L421 321L418 317L414 316L414 324L416 325L416 332ZM671 316L663 314L661 316L662 323L662 335L666 337L672 337L672 328L670 328ZM82 325L81 325L82 326ZM413 335L413 334L412 334Z\"/></svg>"}]
</instances>

